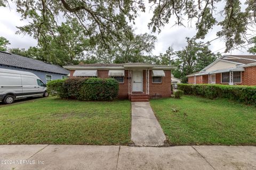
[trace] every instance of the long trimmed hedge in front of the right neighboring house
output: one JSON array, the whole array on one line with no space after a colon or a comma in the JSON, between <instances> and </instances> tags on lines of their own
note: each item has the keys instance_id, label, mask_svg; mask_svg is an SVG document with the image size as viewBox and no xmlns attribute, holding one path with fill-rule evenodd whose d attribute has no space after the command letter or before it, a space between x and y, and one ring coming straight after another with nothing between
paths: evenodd
<instances>
[{"instance_id":1,"label":"long trimmed hedge in front of the right neighboring house","mask_svg":"<svg viewBox=\"0 0 256 170\"><path fill-rule=\"evenodd\" d=\"M245 104L256 104L256 86L230 86L222 84L178 84L185 95L228 98Z\"/></svg>"}]
</instances>

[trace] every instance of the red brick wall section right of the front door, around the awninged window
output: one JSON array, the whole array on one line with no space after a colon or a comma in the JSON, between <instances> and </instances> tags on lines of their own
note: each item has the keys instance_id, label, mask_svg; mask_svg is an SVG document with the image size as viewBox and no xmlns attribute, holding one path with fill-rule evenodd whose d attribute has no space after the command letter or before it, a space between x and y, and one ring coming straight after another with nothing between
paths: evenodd
<instances>
[{"instance_id":1,"label":"red brick wall section right of the front door, around the awninged window","mask_svg":"<svg viewBox=\"0 0 256 170\"><path fill-rule=\"evenodd\" d=\"M161 94L162 97L171 96L171 71L165 70L165 77L162 77L162 83L152 83L152 74L149 71L149 95Z\"/></svg>"}]
</instances>

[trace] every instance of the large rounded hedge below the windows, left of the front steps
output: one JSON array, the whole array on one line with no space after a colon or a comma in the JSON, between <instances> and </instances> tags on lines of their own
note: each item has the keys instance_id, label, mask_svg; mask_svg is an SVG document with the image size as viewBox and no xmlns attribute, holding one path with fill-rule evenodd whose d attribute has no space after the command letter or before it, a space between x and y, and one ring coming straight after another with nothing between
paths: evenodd
<instances>
[{"instance_id":1,"label":"large rounded hedge below the windows, left of the front steps","mask_svg":"<svg viewBox=\"0 0 256 170\"><path fill-rule=\"evenodd\" d=\"M47 83L49 94L63 99L111 100L117 97L118 90L119 83L113 78L70 78Z\"/></svg>"}]
</instances>

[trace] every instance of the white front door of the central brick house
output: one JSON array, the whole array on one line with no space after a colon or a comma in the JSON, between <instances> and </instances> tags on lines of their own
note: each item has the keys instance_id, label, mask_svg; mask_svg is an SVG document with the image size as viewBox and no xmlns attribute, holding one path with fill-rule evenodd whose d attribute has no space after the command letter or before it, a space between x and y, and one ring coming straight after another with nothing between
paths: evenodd
<instances>
[{"instance_id":1,"label":"white front door of the central brick house","mask_svg":"<svg viewBox=\"0 0 256 170\"><path fill-rule=\"evenodd\" d=\"M143 74L142 71L133 70L132 71L132 91L141 91L143 87Z\"/></svg>"}]
</instances>

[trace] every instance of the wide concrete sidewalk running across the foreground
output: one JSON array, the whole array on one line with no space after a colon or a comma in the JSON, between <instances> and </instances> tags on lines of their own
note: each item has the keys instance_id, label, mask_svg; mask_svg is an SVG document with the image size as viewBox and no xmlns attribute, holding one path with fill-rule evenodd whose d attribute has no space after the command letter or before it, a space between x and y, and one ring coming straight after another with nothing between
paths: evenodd
<instances>
[{"instance_id":1,"label":"wide concrete sidewalk running across the foreground","mask_svg":"<svg viewBox=\"0 0 256 170\"><path fill-rule=\"evenodd\" d=\"M9 164L5 164L5 160ZM256 169L253 146L0 146L0 169ZM10 161L12 165L10 165Z\"/></svg>"}]
</instances>

